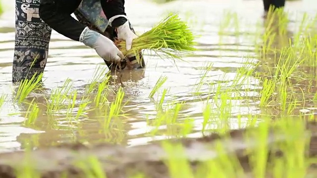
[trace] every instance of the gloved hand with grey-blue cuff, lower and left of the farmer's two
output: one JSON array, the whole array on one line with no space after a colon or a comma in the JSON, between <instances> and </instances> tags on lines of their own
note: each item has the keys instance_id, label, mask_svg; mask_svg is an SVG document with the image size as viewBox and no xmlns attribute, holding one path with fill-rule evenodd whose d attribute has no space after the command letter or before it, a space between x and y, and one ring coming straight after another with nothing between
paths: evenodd
<instances>
[{"instance_id":1,"label":"gloved hand with grey-blue cuff, lower and left of the farmer's two","mask_svg":"<svg viewBox=\"0 0 317 178\"><path fill-rule=\"evenodd\" d=\"M106 61L118 63L124 59L122 52L110 39L96 31L90 30L88 27L81 33L79 41L86 46L94 48L97 54Z\"/></svg>"}]
</instances>

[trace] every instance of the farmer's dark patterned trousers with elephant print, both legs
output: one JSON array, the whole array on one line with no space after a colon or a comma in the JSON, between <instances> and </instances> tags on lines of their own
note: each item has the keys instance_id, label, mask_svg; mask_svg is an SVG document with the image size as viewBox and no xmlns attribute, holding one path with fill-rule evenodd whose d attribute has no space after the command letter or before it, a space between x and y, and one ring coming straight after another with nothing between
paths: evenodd
<instances>
[{"instance_id":1,"label":"farmer's dark patterned trousers with elephant print, both legs","mask_svg":"<svg viewBox=\"0 0 317 178\"><path fill-rule=\"evenodd\" d=\"M49 54L52 29L39 16L40 0L15 0L15 46L12 65L12 82L31 79L44 72ZM107 19L100 0L83 0L74 12L76 18L92 30L98 31L111 40L116 37L114 29L106 27ZM131 30L134 32L131 24ZM142 63L134 68L145 66ZM128 58L132 61L135 57ZM111 70L112 63L106 62ZM121 62L121 69L127 62ZM115 68L117 68L116 66Z\"/></svg>"}]
</instances>

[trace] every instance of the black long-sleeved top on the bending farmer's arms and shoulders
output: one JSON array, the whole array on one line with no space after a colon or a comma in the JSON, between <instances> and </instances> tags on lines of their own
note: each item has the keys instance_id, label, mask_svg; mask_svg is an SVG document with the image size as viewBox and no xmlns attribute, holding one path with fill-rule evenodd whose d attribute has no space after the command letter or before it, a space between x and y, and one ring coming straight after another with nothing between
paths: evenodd
<instances>
[{"instance_id":1,"label":"black long-sleeved top on the bending farmer's arms and shoulders","mask_svg":"<svg viewBox=\"0 0 317 178\"><path fill-rule=\"evenodd\" d=\"M41 19L59 34L72 40L79 41L79 37L86 27L71 14L78 8L82 0L41 0L39 14ZM124 0L100 0L106 17L126 15ZM112 27L118 27L127 20L124 17L116 18Z\"/></svg>"}]
</instances>

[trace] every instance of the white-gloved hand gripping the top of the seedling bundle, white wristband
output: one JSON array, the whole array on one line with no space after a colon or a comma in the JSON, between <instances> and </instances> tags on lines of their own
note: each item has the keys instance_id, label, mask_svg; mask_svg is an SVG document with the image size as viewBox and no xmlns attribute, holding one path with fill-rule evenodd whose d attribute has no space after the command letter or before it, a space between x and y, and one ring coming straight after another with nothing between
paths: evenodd
<instances>
[{"instance_id":1,"label":"white-gloved hand gripping the top of the seedling bundle, white wristband","mask_svg":"<svg viewBox=\"0 0 317 178\"><path fill-rule=\"evenodd\" d=\"M119 40L126 42L126 49L130 50L132 47L133 39L138 38L130 29L129 21L126 21L123 25L116 28L117 37Z\"/></svg>"}]
</instances>

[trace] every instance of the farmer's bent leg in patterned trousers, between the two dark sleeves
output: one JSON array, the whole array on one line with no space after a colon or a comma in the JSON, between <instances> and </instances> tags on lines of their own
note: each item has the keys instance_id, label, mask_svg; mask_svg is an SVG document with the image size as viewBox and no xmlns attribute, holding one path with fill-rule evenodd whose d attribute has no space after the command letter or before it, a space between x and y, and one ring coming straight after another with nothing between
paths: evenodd
<instances>
[{"instance_id":1,"label":"farmer's bent leg in patterned trousers, between the two dark sleeves","mask_svg":"<svg viewBox=\"0 0 317 178\"><path fill-rule=\"evenodd\" d=\"M114 38L117 37L114 29L110 26L106 26L108 20L103 12L100 0L83 0L74 14L81 23L90 27L90 29L103 34L110 40L114 41ZM131 24L130 28L134 32ZM124 69L126 66L129 68L144 68L145 62L142 52L140 53L140 56L142 59L141 64L137 63L136 57L128 57L126 61L129 62L129 65L127 65L126 61L120 62L121 69ZM118 69L119 67L114 66L111 62L105 61L105 63L110 70Z\"/></svg>"}]
</instances>

